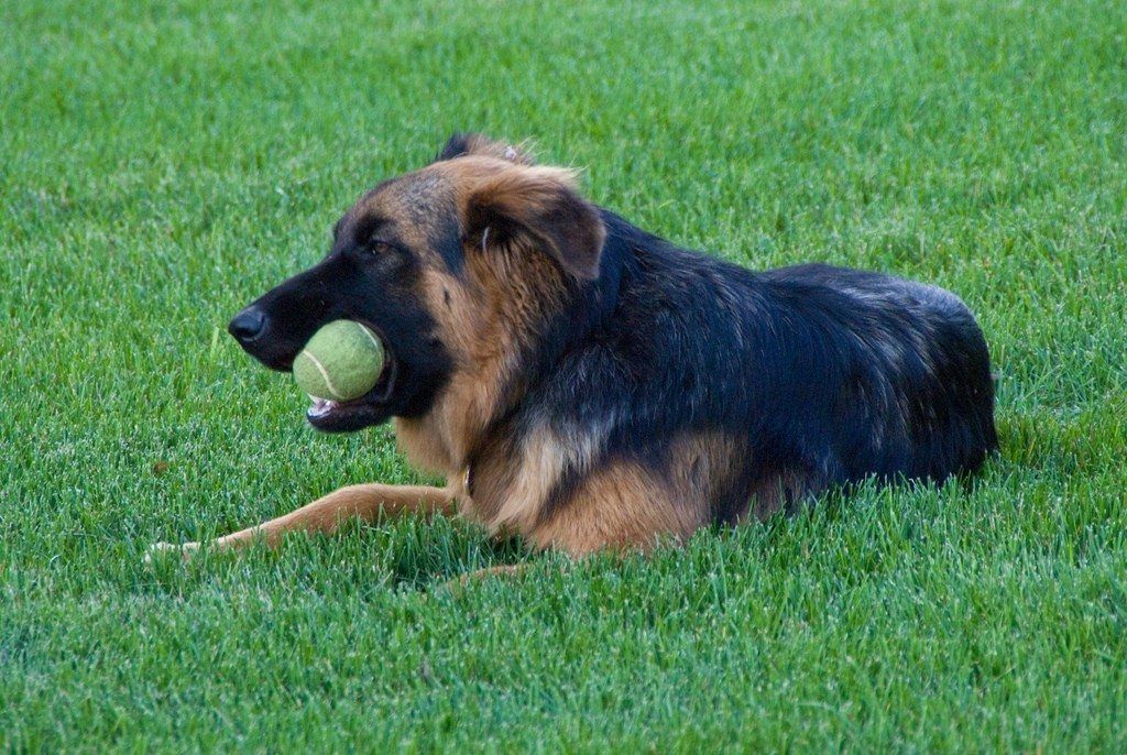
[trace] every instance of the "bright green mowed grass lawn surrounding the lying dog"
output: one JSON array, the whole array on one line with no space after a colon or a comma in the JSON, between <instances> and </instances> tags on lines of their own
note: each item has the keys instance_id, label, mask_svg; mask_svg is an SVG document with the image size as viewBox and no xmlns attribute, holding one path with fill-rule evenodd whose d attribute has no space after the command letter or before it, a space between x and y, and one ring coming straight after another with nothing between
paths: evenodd
<instances>
[{"instance_id":1,"label":"bright green mowed grass lawn surrounding the lying dog","mask_svg":"<svg viewBox=\"0 0 1127 755\"><path fill-rule=\"evenodd\" d=\"M3 3L0 749L1122 752L1125 35L1080 1ZM648 559L408 519L143 566L425 479L223 328L456 128L744 265L958 292L1001 458Z\"/></svg>"}]
</instances>

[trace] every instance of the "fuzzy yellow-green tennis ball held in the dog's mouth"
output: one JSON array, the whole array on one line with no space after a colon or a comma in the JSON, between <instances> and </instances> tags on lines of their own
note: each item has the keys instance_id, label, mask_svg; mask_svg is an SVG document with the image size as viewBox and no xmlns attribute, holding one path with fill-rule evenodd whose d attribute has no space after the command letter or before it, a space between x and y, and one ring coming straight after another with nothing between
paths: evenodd
<instances>
[{"instance_id":1,"label":"fuzzy yellow-green tennis ball held in the dog's mouth","mask_svg":"<svg viewBox=\"0 0 1127 755\"><path fill-rule=\"evenodd\" d=\"M293 379L312 397L348 401L372 390L383 370L383 345L353 320L334 320L313 334L293 361Z\"/></svg>"}]
</instances>

